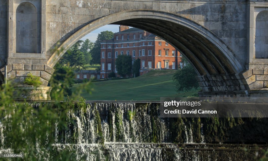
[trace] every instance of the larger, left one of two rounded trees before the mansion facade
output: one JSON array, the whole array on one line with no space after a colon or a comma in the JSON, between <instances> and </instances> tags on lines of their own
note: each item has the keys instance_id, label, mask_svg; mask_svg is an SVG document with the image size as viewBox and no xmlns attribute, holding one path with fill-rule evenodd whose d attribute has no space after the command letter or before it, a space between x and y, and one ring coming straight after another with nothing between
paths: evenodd
<instances>
[{"instance_id":1,"label":"larger, left one of two rounded trees before the mansion facade","mask_svg":"<svg viewBox=\"0 0 268 161\"><path fill-rule=\"evenodd\" d=\"M131 73L132 60L130 55L119 55L116 58L116 69L120 76L125 76Z\"/></svg>"}]
</instances>

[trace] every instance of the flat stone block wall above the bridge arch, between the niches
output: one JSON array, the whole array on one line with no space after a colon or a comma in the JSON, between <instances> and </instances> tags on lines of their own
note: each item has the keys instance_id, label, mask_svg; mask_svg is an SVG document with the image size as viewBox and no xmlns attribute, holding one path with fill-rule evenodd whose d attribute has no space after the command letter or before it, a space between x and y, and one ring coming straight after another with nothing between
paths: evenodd
<instances>
[{"instance_id":1,"label":"flat stone block wall above the bridge arch, between the niches","mask_svg":"<svg viewBox=\"0 0 268 161\"><path fill-rule=\"evenodd\" d=\"M246 54L246 2L229 1L92 1L47 0L47 57L56 42L69 38L77 30L109 14L127 10L156 10L181 15L215 33L245 64ZM116 19L114 20L116 22ZM107 23L103 22L104 25ZM54 50L52 50L53 52Z\"/></svg>"}]
</instances>

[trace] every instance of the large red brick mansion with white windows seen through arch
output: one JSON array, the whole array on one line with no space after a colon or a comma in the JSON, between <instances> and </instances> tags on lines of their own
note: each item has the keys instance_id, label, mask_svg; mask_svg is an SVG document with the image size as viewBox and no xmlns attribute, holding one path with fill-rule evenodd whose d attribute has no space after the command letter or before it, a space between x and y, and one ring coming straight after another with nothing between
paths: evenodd
<instances>
[{"instance_id":1,"label":"large red brick mansion with white windows seen through arch","mask_svg":"<svg viewBox=\"0 0 268 161\"><path fill-rule=\"evenodd\" d=\"M180 53L168 42L137 28L120 25L112 40L101 42L101 78L108 78L117 70L115 60L119 54L131 55L132 62L140 59L140 75L153 69L178 69L182 66ZM129 77L132 77L129 76Z\"/></svg>"}]
</instances>

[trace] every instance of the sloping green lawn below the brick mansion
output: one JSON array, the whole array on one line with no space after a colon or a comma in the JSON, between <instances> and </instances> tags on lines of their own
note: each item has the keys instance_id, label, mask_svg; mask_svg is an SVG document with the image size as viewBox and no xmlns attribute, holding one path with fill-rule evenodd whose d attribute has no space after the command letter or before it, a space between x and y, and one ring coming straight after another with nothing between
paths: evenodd
<instances>
[{"instance_id":1,"label":"sloping green lawn below the brick mansion","mask_svg":"<svg viewBox=\"0 0 268 161\"><path fill-rule=\"evenodd\" d=\"M160 97L186 97L197 94L197 90L177 93L172 80L174 72L155 70L137 78L93 82L92 95L83 92L82 96L86 100L160 101ZM75 85L73 90L77 88L80 88L80 85Z\"/></svg>"}]
</instances>

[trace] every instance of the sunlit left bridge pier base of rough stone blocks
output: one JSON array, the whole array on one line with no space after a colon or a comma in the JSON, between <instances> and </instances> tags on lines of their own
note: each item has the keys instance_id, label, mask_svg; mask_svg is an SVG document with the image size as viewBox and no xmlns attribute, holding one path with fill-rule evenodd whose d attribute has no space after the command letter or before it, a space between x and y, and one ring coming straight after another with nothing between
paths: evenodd
<instances>
[{"instance_id":1,"label":"sunlit left bridge pier base of rough stone blocks","mask_svg":"<svg viewBox=\"0 0 268 161\"><path fill-rule=\"evenodd\" d=\"M35 54L35 58L25 58L28 53L16 53L24 58L8 58L8 64L1 69L3 76L10 81L14 88L13 98L15 100L50 100L52 87L47 87L54 69L47 65L47 60L42 54ZM39 56L39 57L38 57ZM27 75L40 77L41 85L34 87L24 83Z\"/></svg>"}]
</instances>

